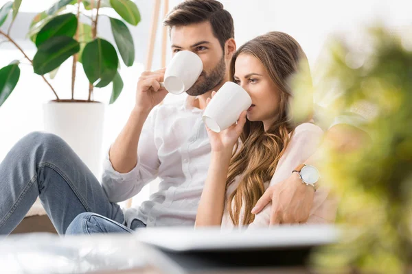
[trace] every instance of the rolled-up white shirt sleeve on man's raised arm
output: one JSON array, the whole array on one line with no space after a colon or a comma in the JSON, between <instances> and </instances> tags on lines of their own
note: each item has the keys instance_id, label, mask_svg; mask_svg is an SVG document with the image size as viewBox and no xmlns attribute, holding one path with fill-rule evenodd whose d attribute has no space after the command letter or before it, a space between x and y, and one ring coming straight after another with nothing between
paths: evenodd
<instances>
[{"instance_id":1,"label":"rolled-up white shirt sleeve on man's raised arm","mask_svg":"<svg viewBox=\"0 0 412 274\"><path fill-rule=\"evenodd\" d=\"M159 108L150 112L141 130L137 149L137 164L128 173L119 173L113 169L108 151L104 159L102 187L108 200L117 203L137 195L146 184L157 177L160 166L158 150L155 144L156 117Z\"/></svg>"}]
</instances>

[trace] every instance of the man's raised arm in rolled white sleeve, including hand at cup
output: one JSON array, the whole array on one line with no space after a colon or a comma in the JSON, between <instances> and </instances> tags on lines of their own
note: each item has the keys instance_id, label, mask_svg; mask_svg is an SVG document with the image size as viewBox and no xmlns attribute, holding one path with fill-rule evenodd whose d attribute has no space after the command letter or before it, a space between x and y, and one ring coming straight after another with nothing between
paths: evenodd
<instances>
[{"instance_id":1,"label":"man's raised arm in rolled white sleeve, including hand at cup","mask_svg":"<svg viewBox=\"0 0 412 274\"><path fill-rule=\"evenodd\" d=\"M137 83L135 108L104 160L102 187L111 202L125 201L157 176L159 157L155 121L167 91L160 88L164 71L146 72ZM150 112L150 114L149 114Z\"/></svg>"}]
</instances>

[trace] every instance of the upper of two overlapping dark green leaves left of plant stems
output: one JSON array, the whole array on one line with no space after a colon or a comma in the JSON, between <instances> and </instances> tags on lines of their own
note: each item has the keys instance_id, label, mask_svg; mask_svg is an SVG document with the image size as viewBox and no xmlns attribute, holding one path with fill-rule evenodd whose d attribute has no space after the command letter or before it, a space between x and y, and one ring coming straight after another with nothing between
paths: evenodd
<instances>
[{"instance_id":1,"label":"upper of two overlapping dark green leaves left of plant stems","mask_svg":"<svg viewBox=\"0 0 412 274\"><path fill-rule=\"evenodd\" d=\"M76 34L78 21L76 15L67 13L54 17L47 23L36 37L36 47L56 36L73 37Z\"/></svg>"}]
</instances>

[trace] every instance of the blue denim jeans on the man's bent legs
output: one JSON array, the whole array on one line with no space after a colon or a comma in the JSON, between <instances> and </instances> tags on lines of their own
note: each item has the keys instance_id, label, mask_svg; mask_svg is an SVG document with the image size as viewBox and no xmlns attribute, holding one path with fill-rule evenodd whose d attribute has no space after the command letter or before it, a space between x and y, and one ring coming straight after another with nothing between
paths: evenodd
<instances>
[{"instance_id":1,"label":"blue denim jeans on the man's bent legs","mask_svg":"<svg viewBox=\"0 0 412 274\"><path fill-rule=\"evenodd\" d=\"M28 134L1 162L0 235L19 225L37 197L60 235L133 232L119 205L108 201L98 179L54 134ZM145 226L135 221L132 228Z\"/></svg>"}]
</instances>

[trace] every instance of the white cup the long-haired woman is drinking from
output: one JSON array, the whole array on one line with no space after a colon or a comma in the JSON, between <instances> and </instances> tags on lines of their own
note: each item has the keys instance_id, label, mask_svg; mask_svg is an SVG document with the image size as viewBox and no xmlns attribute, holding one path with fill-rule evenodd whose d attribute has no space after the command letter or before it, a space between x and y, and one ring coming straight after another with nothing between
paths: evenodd
<instances>
[{"instance_id":1,"label":"white cup the long-haired woman is drinking from","mask_svg":"<svg viewBox=\"0 0 412 274\"><path fill-rule=\"evenodd\" d=\"M246 90L238 84L226 82L207 105L203 121L212 131L220 132L236 123L240 114L251 105L252 99Z\"/></svg>"}]
</instances>

